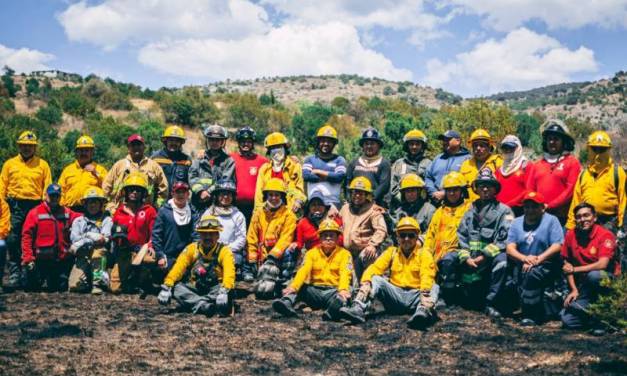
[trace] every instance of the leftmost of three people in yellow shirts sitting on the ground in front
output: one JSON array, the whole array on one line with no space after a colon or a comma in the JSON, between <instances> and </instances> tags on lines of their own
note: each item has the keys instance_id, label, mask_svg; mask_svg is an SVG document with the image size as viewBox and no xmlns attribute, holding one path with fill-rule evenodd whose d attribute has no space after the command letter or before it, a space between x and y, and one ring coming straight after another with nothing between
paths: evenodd
<instances>
[{"instance_id":1,"label":"leftmost of three people in yellow shirts sitting on the ground in front","mask_svg":"<svg viewBox=\"0 0 627 376\"><path fill-rule=\"evenodd\" d=\"M228 316L233 307L235 261L229 247L218 242L222 227L212 215L204 215L196 232L200 241L189 244L179 255L161 286L162 305L171 298L194 314ZM179 282L183 276L189 280Z\"/></svg>"}]
</instances>

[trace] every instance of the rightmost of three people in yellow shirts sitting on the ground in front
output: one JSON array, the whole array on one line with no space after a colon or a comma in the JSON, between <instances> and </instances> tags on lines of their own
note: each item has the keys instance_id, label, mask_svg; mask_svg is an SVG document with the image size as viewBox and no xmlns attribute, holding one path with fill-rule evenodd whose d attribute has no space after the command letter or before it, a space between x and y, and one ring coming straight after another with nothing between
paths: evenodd
<instances>
[{"instance_id":1,"label":"rightmost of three people in yellow shirts sitting on the ground in front","mask_svg":"<svg viewBox=\"0 0 627 376\"><path fill-rule=\"evenodd\" d=\"M401 218L396 225L399 247L389 247L366 269L353 305L341 309L346 319L365 322L371 298L378 298L386 312L413 312L407 321L411 327L424 328L433 321L439 292L434 283L435 262L431 252L417 241L419 234L420 226L415 219ZM389 280L383 277L388 271Z\"/></svg>"}]
</instances>

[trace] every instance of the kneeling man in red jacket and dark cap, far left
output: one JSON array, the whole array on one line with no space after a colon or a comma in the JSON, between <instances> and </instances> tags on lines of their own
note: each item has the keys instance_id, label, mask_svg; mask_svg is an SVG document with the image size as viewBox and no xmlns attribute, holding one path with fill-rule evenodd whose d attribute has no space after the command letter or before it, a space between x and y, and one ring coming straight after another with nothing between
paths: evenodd
<instances>
[{"instance_id":1,"label":"kneeling man in red jacket and dark cap, far left","mask_svg":"<svg viewBox=\"0 0 627 376\"><path fill-rule=\"evenodd\" d=\"M46 200L26 215L22 227L22 267L26 270L26 289L67 291L73 265L68 253L70 230L80 213L60 205L61 186L50 184Z\"/></svg>"}]
</instances>

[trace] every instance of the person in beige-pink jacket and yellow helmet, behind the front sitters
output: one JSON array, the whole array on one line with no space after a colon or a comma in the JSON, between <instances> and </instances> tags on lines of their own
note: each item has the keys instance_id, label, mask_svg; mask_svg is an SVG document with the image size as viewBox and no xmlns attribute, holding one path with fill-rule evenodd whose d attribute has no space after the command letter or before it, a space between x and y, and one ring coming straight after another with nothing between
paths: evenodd
<instances>
[{"instance_id":1,"label":"person in beige-pink jacket and yellow helmet, behind the front sitters","mask_svg":"<svg viewBox=\"0 0 627 376\"><path fill-rule=\"evenodd\" d=\"M342 235L344 248L353 256L355 275L362 273L372 264L387 237L385 209L373 202L373 189L370 180L364 176L353 179L348 186L350 200L342 209L340 217L344 223Z\"/></svg>"}]
</instances>

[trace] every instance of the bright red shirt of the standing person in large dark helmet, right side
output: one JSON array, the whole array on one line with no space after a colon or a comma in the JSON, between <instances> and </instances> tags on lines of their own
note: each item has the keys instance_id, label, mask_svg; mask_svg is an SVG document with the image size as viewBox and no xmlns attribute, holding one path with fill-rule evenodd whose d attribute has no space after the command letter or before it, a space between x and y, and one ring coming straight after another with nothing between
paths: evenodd
<instances>
[{"instance_id":1,"label":"bright red shirt of the standing person in large dark helmet, right side","mask_svg":"<svg viewBox=\"0 0 627 376\"><path fill-rule=\"evenodd\" d=\"M555 163L542 159L533 165L527 189L544 195L549 212L565 221L580 172L581 164L572 154Z\"/></svg>"}]
</instances>

